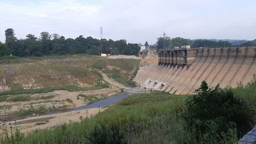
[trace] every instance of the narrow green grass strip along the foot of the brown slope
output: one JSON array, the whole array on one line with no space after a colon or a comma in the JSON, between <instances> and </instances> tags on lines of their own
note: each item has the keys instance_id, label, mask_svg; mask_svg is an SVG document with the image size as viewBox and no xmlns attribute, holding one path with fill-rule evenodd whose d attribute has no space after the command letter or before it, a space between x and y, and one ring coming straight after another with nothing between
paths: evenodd
<instances>
[{"instance_id":1,"label":"narrow green grass strip along the foot of the brown slope","mask_svg":"<svg viewBox=\"0 0 256 144\"><path fill-rule=\"evenodd\" d=\"M41 94L41 93L47 93L52 91L58 91L58 90L91 91L91 90L101 89L101 88L108 88L108 84L98 84L95 87L87 87L87 88L81 88L75 85L65 85L65 86L59 86L59 87L39 88L39 89L15 89L11 91L1 92L0 95Z\"/></svg>"}]
</instances>

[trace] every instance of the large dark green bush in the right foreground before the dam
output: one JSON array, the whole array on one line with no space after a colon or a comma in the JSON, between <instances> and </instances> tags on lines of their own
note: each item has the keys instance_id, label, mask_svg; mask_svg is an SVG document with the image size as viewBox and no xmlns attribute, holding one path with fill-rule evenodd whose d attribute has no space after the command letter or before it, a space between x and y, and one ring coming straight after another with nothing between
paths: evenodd
<instances>
[{"instance_id":1,"label":"large dark green bush in the right foreground before the dam","mask_svg":"<svg viewBox=\"0 0 256 144\"><path fill-rule=\"evenodd\" d=\"M252 128L254 111L235 98L231 89L209 88L203 81L196 93L185 101L183 118L185 129L198 142L236 142L236 135Z\"/></svg>"}]
</instances>

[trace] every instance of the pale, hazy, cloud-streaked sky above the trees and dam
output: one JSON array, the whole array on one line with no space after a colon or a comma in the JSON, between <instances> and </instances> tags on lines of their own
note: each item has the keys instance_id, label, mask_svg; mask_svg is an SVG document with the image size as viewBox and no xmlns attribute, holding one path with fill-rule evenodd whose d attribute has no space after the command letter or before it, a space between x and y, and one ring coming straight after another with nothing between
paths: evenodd
<instances>
[{"instance_id":1,"label":"pale, hazy, cloud-streaked sky above the trees and dam","mask_svg":"<svg viewBox=\"0 0 256 144\"><path fill-rule=\"evenodd\" d=\"M165 33L186 39L256 39L255 0L1 0L0 41L42 31L129 43L156 43Z\"/></svg>"}]
</instances>

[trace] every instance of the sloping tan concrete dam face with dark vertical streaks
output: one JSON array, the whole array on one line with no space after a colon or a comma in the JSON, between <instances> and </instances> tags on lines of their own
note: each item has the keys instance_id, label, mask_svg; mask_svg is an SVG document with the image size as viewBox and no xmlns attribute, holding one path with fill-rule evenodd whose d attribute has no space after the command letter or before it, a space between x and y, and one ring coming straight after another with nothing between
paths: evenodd
<instances>
[{"instance_id":1,"label":"sloping tan concrete dam face with dark vertical streaks","mask_svg":"<svg viewBox=\"0 0 256 144\"><path fill-rule=\"evenodd\" d=\"M140 68L142 87L171 94L193 94L206 81L210 87L237 87L255 81L256 47L160 50L158 63Z\"/></svg>"}]
</instances>

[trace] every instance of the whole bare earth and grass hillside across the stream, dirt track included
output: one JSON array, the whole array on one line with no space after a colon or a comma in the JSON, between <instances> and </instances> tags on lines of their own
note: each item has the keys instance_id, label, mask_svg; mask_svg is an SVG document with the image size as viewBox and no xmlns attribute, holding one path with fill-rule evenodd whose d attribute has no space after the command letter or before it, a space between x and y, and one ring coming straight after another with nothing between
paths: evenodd
<instances>
[{"instance_id":1,"label":"whole bare earth and grass hillside across the stream, dirt track included","mask_svg":"<svg viewBox=\"0 0 256 144\"><path fill-rule=\"evenodd\" d=\"M0 116L93 103L129 85L139 62L88 55L2 59Z\"/></svg>"}]
</instances>

